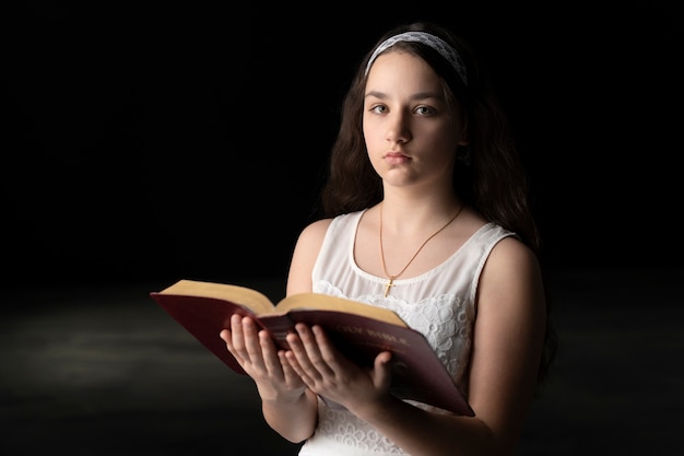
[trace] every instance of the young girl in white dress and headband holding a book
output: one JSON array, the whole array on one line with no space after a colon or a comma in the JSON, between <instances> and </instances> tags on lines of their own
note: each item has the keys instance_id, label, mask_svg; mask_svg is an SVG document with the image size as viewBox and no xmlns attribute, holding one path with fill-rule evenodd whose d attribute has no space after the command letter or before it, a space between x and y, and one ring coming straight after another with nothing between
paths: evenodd
<instances>
[{"instance_id":1,"label":"young girl in white dress and headband holding a book","mask_svg":"<svg viewBox=\"0 0 684 456\"><path fill-rule=\"evenodd\" d=\"M469 48L436 24L378 40L343 105L327 219L300 234L287 294L397 312L425 335L475 417L388 393L391 353L362 369L317 326L291 350L234 317L227 349L263 416L300 455L511 454L549 356L545 288L527 184Z\"/></svg>"}]
</instances>

